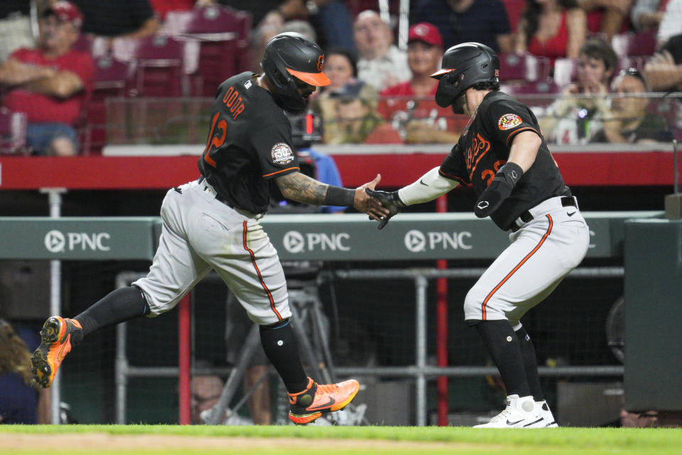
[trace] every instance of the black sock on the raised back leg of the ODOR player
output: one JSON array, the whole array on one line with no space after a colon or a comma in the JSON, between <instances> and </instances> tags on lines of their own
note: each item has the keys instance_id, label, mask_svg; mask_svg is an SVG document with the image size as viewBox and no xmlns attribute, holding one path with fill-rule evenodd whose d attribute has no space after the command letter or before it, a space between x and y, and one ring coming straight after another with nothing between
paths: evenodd
<instances>
[{"instance_id":1,"label":"black sock on the raised back leg of the ODOR player","mask_svg":"<svg viewBox=\"0 0 682 455\"><path fill-rule=\"evenodd\" d=\"M136 286L129 286L109 292L104 299L97 301L73 319L83 326L82 334L85 336L99 328L129 321L145 314L149 314L149 306L142 290ZM75 338L74 342L80 343L81 340Z\"/></svg>"}]
</instances>

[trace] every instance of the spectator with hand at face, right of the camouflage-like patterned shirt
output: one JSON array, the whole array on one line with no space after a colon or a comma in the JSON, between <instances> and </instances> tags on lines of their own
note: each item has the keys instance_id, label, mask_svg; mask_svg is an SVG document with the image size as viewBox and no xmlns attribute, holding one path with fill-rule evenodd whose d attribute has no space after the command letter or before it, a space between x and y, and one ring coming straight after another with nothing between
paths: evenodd
<instances>
[{"instance_id":1,"label":"spectator with hand at face, right of the camouflage-like patterned shirt","mask_svg":"<svg viewBox=\"0 0 682 455\"><path fill-rule=\"evenodd\" d=\"M647 112L649 87L637 68L622 70L614 78L610 112L604 119L604 129L595 133L590 142L611 144L651 144L673 140L666 119ZM628 96L629 95L629 96ZM640 96L632 96L640 95Z\"/></svg>"}]
</instances>

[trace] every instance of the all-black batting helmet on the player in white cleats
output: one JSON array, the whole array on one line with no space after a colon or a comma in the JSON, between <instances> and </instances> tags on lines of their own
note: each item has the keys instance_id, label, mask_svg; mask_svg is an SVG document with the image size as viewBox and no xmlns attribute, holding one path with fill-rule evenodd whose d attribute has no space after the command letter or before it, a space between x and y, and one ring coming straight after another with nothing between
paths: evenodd
<instances>
[{"instance_id":1,"label":"all-black batting helmet on the player in white cleats","mask_svg":"<svg viewBox=\"0 0 682 455\"><path fill-rule=\"evenodd\" d=\"M445 50L441 69L431 75L439 79L435 102L440 107L453 104L476 82L499 82L499 58L481 43L462 43Z\"/></svg>"}]
</instances>

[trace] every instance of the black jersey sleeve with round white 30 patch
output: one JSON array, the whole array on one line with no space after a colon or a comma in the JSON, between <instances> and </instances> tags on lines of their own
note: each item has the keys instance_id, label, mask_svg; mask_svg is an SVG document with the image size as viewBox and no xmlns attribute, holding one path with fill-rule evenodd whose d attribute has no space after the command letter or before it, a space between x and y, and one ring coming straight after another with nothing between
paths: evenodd
<instances>
[{"instance_id":1,"label":"black jersey sleeve with round white 30 patch","mask_svg":"<svg viewBox=\"0 0 682 455\"><path fill-rule=\"evenodd\" d=\"M261 176L269 180L299 171L298 157L291 148L291 132L284 125L270 125L251 137L261 165Z\"/></svg>"}]
</instances>

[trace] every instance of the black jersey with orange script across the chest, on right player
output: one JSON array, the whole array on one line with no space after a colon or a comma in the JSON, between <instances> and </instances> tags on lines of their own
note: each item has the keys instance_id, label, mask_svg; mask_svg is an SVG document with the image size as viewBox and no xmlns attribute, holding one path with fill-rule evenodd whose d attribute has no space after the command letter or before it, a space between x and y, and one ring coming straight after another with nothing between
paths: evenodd
<instances>
[{"instance_id":1,"label":"black jersey with orange script across the chest, on right player","mask_svg":"<svg viewBox=\"0 0 682 455\"><path fill-rule=\"evenodd\" d=\"M507 163L511 141L523 131L538 134L542 144L533 166L521 176L511 196L490 215L502 230L508 230L521 213L543 200L570 196L531 109L506 93L489 92L440 165L441 176L471 184L478 197Z\"/></svg>"}]
</instances>

